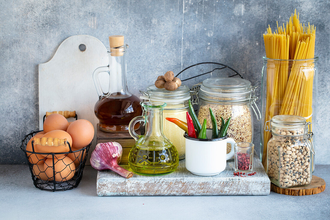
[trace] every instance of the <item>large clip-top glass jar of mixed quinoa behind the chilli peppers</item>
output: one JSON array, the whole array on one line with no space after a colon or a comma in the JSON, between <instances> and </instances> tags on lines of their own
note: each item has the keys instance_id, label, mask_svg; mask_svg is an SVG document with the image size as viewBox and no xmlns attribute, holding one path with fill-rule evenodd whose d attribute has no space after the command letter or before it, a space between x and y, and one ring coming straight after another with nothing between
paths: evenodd
<instances>
[{"instance_id":1,"label":"large clip-top glass jar of mixed quinoa behind the chilli peppers","mask_svg":"<svg viewBox=\"0 0 330 220\"><path fill-rule=\"evenodd\" d=\"M203 123L206 118L207 128L212 128L209 110L211 108L218 128L221 126L221 117L224 121L231 117L228 136L236 142L252 142L252 112L258 121L261 117L255 104L258 99L254 94L255 88L250 81L241 78L218 77L204 80L198 90L198 120ZM231 145L227 144L227 153L230 151Z\"/></svg>"}]
</instances>

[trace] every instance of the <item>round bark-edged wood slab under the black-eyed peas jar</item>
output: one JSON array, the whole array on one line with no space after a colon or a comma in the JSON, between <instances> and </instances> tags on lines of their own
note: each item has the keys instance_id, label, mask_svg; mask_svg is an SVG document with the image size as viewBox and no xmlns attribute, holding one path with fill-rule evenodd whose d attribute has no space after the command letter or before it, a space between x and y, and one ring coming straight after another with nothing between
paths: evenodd
<instances>
[{"instance_id":1,"label":"round bark-edged wood slab under the black-eyed peas jar","mask_svg":"<svg viewBox=\"0 0 330 220\"><path fill-rule=\"evenodd\" d=\"M297 186L287 189L282 189L275 184L270 184L270 190L278 193L289 196L306 196L321 193L325 190L325 181L324 179L318 176L312 176L312 182L308 186Z\"/></svg>"}]
</instances>

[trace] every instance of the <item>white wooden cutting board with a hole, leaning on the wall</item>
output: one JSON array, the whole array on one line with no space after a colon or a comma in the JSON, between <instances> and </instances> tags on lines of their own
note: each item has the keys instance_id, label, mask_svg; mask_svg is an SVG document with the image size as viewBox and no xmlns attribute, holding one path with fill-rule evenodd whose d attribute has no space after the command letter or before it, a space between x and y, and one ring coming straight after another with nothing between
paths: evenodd
<instances>
[{"instance_id":1,"label":"white wooden cutting board with a hole, leaning on the wall","mask_svg":"<svg viewBox=\"0 0 330 220\"><path fill-rule=\"evenodd\" d=\"M79 49L82 44L84 51ZM86 119L96 128L94 105L98 95L92 74L97 67L107 65L107 49L97 38L75 35L65 39L48 62L39 64L39 128L43 129L46 111L65 110L76 111L78 119ZM109 82L109 75L105 77L100 82ZM95 145L96 130L90 150Z\"/></svg>"}]
</instances>

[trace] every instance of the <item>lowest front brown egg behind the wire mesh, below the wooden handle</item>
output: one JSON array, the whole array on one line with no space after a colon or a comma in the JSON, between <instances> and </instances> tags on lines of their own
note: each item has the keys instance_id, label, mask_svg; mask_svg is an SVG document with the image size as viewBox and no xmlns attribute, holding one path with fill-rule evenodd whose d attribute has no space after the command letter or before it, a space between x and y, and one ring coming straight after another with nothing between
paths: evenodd
<instances>
[{"instance_id":1,"label":"lowest front brown egg behind the wire mesh, below the wooden handle","mask_svg":"<svg viewBox=\"0 0 330 220\"><path fill-rule=\"evenodd\" d=\"M67 156L54 157L54 169L53 159L48 158L44 164L45 173L47 176L53 176L53 170L55 171L55 181L63 182L70 180L75 174L76 166L73 161Z\"/></svg>"}]
</instances>

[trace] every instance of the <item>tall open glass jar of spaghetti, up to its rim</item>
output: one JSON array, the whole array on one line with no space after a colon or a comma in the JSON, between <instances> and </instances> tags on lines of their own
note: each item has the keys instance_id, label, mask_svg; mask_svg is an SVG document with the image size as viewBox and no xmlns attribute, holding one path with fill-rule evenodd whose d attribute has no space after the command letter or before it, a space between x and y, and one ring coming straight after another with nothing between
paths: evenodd
<instances>
[{"instance_id":1,"label":"tall open glass jar of spaghetti, up to its rim","mask_svg":"<svg viewBox=\"0 0 330 220\"><path fill-rule=\"evenodd\" d=\"M315 128L318 57L302 60L263 57L263 60L261 130L263 130L265 122L271 120L275 115L299 115L304 117L307 122L311 122L312 129ZM267 142L271 137L272 134L266 131L261 135L260 158L265 169ZM315 143L315 138L313 140Z\"/></svg>"}]
</instances>

